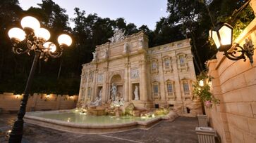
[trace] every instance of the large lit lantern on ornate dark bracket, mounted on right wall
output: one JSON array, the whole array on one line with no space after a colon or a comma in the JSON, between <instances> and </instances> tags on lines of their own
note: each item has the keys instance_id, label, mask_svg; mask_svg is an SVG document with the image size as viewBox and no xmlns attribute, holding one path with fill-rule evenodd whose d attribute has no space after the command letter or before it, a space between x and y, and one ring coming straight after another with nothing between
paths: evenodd
<instances>
[{"instance_id":1,"label":"large lit lantern on ornate dark bracket, mounted on right wall","mask_svg":"<svg viewBox=\"0 0 256 143\"><path fill-rule=\"evenodd\" d=\"M224 55L230 60L246 61L245 55L250 59L250 63L253 63L254 47L251 39L245 39L243 47L239 46L238 43L233 44L233 27L224 23L209 30L209 36L214 40L218 50L224 52ZM232 49L231 51L228 51Z\"/></svg>"}]
</instances>

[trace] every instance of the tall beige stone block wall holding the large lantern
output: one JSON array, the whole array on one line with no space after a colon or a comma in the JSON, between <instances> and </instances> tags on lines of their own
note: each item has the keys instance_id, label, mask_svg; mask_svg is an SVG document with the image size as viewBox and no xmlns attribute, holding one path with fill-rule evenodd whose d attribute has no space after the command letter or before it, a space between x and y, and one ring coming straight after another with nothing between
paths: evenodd
<instances>
[{"instance_id":1,"label":"tall beige stone block wall holding the large lantern","mask_svg":"<svg viewBox=\"0 0 256 143\"><path fill-rule=\"evenodd\" d=\"M256 0L251 1L255 10ZM236 39L243 46L246 38L256 45L256 18ZM255 46L256 47L256 46ZM256 53L256 51L255 51ZM232 61L217 53L216 60L207 63L213 76L212 92L220 104L206 109L211 126L217 130L221 142L256 142L256 56L251 65L249 59Z\"/></svg>"}]
</instances>

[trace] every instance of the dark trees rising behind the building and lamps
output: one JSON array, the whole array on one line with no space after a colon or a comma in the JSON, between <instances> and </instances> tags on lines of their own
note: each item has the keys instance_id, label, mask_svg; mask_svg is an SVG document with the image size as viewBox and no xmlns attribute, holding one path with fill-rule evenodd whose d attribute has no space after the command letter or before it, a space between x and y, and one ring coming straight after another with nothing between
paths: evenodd
<instances>
[{"instance_id":1,"label":"dark trees rising behind the building and lamps","mask_svg":"<svg viewBox=\"0 0 256 143\"><path fill-rule=\"evenodd\" d=\"M20 18L32 15L39 19L43 27L51 32L51 41L56 42L62 32L72 34L73 44L65 49L59 59L50 58L48 62L39 61L32 92L78 93L82 64L92 60L92 52L97 45L106 43L113 36L115 29L125 30L126 35L140 30L149 37L149 46L158 46L185 38L191 39L192 52L197 73L203 63L217 53L217 49L208 41L208 30L212 21L228 20L233 11L245 1L233 0L168 0L169 16L160 18L152 31L147 25L137 27L126 22L124 18L111 20L100 18L96 13L74 9L75 27L68 23L66 10L52 0L42 0L38 8L30 7L28 11L20 8L18 0L1 0L0 2L0 92L13 91L22 93L33 60L33 55L13 55L11 41L7 32L10 27L20 25ZM209 9L211 17L207 11ZM234 35L237 35L252 18L252 10L245 8L236 16ZM233 25L233 24L232 24Z\"/></svg>"}]
</instances>

